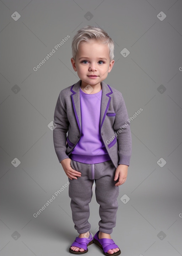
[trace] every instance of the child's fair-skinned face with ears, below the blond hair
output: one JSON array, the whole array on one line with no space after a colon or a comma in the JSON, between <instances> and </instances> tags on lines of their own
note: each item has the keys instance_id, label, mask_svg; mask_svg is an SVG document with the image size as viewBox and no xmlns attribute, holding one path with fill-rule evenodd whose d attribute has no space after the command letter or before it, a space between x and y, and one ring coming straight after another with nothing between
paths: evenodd
<instances>
[{"instance_id":1,"label":"child's fair-skinned face with ears, below the blond hair","mask_svg":"<svg viewBox=\"0 0 182 256\"><path fill-rule=\"evenodd\" d=\"M91 42L80 42L76 61L71 58L71 63L81 79L81 85L85 87L89 84L95 87L106 79L114 60L110 62L108 45L91 40Z\"/></svg>"}]
</instances>

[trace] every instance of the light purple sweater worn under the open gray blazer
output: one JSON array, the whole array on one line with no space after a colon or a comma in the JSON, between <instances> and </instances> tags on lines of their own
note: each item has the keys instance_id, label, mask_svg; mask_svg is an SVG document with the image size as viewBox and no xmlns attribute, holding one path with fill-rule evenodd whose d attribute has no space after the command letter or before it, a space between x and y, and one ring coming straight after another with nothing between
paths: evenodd
<instances>
[{"instance_id":1,"label":"light purple sweater worn under the open gray blazer","mask_svg":"<svg viewBox=\"0 0 182 256\"><path fill-rule=\"evenodd\" d=\"M80 88L81 137L71 152L72 160L98 164L111 160L99 132L102 90L87 94Z\"/></svg>"}]
</instances>

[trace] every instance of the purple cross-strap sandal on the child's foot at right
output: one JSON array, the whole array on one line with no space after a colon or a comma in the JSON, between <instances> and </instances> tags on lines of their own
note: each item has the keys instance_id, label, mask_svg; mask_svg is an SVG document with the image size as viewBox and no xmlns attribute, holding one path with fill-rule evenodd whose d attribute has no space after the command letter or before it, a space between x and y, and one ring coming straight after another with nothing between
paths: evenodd
<instances>
[{"instance_id":1,"label":"purple cross-strap sandal on the child's foot at right","mask_svg":"<svg viewBox=\"0 0 182 256\"><path fill-rule=\"evenodd\" d=\"M107 256L111 256L111 255L119 255L121 254L121 250L114 252L113 254L108 254L107 251L110 249L115 249L115 248L119 248L112 239L109 238L98 238L98 233L99 231L95 234L95 236L93 237L93 242L98 245L102 250L103 250L103 254L107 255ZM105 245L106 244L106 245Z\"/></svg>"}]
</instances>

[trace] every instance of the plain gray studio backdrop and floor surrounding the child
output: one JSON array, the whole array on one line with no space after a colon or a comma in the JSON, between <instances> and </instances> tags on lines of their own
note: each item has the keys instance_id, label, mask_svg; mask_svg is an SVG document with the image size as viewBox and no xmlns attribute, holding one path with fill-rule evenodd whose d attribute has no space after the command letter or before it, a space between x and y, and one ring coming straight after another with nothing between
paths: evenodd
<instances>
[{"instance_id":1,"label":"plain gray studio backdrop and floor surrounding the child","mask_svg":"<svg viewBox=\"0 0 182 256\"><path fill-rule=\"evenodd\" d=\"M123 256L182 255L182 1L4 0L0 10L0 255L70 255L78 235L68 187L33 214L68 181L54 151L52 122L59 92L79 80L71 40L85 25L100 26L115 42L105 82L122 92L129 117L143 108L131 121L132 158L119 187L112 239ZM93 194L93 235L98 208ZM94 244L87 255L93 254L102 255Z\"/></svg>"}]
</instances>

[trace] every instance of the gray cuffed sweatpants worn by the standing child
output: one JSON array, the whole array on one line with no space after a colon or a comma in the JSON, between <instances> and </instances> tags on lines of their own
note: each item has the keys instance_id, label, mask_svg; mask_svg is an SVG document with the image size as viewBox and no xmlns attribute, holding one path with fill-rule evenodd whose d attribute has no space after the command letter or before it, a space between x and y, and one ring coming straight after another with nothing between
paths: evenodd
<instances>
[{"instance_id":1,"label":"gray cuffed sweatpants worn by the standing child","mask_svg":"<svg viewBox=\"0 0 182 256\"><path fill-rule=\"evenodd\" d=\"M75 229L79 234L90 230L89 203L95 180L96 201L100 205L99 215L101 217L98 222L99 230L111 234L113 227L116 226L116 212L118 210L119 186L114 186L118 181L114 181L116 167L111 160L99 164L84 164L71 159L70 165L74 170L81 172L81 177L77 177L77 180L68 178L70 182L70 206Z\"/></svg>"}]
</instances>

